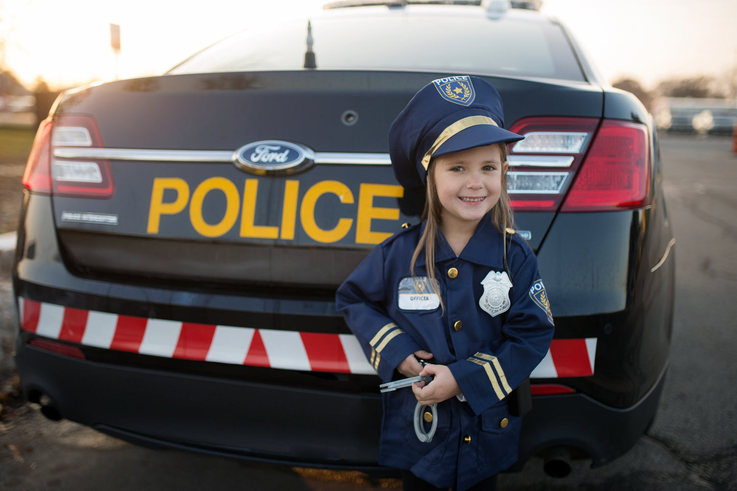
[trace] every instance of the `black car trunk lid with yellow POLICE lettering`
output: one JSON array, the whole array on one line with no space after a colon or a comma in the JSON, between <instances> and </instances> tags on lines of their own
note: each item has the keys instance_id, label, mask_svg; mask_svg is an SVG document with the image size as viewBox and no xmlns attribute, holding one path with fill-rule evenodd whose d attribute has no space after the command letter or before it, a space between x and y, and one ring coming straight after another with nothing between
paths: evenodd
<instances>
[{"instance_id":1,"label":"black car trunk lid with yellow POLICE lettering","mask_svg":"<svg viewBox=\"0 0 737 491\"><path fill-rule=\"evenodd\" d=\"M395 181L386 133L413 94L443 76L189 74L66 94L55 111L55 132L77 124L69 117L89 115L91 133L99 134L91 148L55 141L55 165L96 161L103 174L109 169L110 192L103 198L74 186L55 192L64 260L78 274L131 281L329 292L373 245L402 223L419 222L422 197ZM530 116L601 117L595 86L487 80L505 100L508 126ZM315 164L286 175L234 165L240 147L273 140L314 150ZM537 250L555 214L518 212L517 229Z\"/></svg>"}]
</instances>

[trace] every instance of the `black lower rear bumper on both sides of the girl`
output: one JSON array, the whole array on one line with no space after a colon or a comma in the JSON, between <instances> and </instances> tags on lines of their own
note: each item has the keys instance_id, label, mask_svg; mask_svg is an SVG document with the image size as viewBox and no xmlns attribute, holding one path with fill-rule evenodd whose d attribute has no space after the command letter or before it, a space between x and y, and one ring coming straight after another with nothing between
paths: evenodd
<instances>
[{"instance_id":1,"label":"black lower rear bumper on both sides of the girl","mask_svg":"<svg viewBox=\"0 0 737 491\"><path fill-rule=\"evenodd\" d=\"M153 448L261 462L376 471L379 394L276 386L94 363L24 345L15 362L26 394L46 394L61 417ZM626 453L652 421L663 386L631 408L584 394L534 397L520 470L549 448L582 450L593 465Z\"/></svg>"}]
</instances>

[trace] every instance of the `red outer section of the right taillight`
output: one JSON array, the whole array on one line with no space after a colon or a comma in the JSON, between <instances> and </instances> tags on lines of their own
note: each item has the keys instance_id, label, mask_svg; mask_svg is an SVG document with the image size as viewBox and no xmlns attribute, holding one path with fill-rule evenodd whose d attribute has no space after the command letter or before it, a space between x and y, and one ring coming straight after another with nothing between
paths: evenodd
<instances>
[{"instance_id":1,"label":"red outer section of the right taillight","mask_svg":"<svg viewBox=\"0 0 737 491\"><path fill-rule=\"evenodd\" d=\"M605 120L561 211L597 212L647 206L649 168L645 125Z\"/></svg>"}]
</instances>

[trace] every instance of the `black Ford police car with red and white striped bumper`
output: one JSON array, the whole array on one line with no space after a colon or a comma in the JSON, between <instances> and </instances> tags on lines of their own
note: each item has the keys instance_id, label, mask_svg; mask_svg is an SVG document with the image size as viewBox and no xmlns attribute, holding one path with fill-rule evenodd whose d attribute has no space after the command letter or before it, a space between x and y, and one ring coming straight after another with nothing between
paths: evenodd
<instances>
[{"instance_id":1,"label":"black Ford police car with red and white striped bumper","mask_svg":"<svg viewBox=\"0 0 737 491\"><path fill-rule=\"evenodd\" d=\"M520 467L621 456L668 366L674 237L652 117L524 2L338 2L160 77L62 94L27 170L13 287L25 394L156 448L376 469L379 379L335 310L377 243L419 223L387 130L432 80L505 103L516 233L555 338ZM469 5L465 5L469 3Z\"/></svg>"}]
</instances>

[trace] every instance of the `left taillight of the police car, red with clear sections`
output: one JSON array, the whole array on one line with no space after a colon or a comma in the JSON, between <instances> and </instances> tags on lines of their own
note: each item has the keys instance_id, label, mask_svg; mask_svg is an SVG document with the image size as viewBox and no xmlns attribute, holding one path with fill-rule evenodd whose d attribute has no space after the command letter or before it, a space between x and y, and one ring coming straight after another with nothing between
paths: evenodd
<instances>
[{"instance_id":1,"label":"left taillight of the police car, red with clear sections","mask_svg":"<svg viewBox=\"0 0 737 491\"><path fill-rule=\"evenodd\" d=\"M55 195L112 196L108 161L66 158L63 150L69 147L102 147L97 122L91 116L57 116L41 123L24 173L24 186L33 192Z\"/></svg>"}]
</instances>

